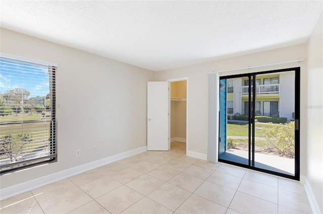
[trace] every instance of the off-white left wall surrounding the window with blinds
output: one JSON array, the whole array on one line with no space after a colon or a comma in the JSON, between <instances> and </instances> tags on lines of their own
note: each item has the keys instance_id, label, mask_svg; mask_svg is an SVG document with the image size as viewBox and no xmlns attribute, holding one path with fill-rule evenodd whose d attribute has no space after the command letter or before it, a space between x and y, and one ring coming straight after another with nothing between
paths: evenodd
<instances>
[{"instance_id":1,"label":"off-white left wall surrounding the window with blinds","mask_svg":"<svg viewBox=\"0 0 323 214\"><path fill-rule=\"evenodd\" d=\"M3 28L0 42L1 52L59 64L58 162L2 175L1 189L146 146L153 72Z\"/></svg>"}]
</instances>

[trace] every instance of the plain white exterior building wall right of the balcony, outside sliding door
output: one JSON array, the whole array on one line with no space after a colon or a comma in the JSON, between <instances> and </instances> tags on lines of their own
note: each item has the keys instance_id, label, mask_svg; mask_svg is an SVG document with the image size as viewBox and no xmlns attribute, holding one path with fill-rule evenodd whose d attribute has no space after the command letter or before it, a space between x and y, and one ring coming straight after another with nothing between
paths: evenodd
<instances>
[{"instance_id":1,"label":"plain white exterior building wall right of the balcony, outside sliding door","mask_svg":"<svg viewBox=\"0 0 323 214\"><path fill-rule=\"evenodd\" d=\"M295 72L279 75L279 116L292 120L295 112Z\"/></svg>"}]
</instances>

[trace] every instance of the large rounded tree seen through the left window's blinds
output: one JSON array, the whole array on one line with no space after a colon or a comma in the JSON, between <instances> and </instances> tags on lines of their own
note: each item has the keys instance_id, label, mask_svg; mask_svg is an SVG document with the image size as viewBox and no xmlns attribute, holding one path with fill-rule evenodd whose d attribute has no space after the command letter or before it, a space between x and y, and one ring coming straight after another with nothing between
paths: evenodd
<instances>
[{"instance_id":1,"label":"large rounded tree seen through the left window's blinds","mask_svg":"<svg viewBox=\"0 0 323 214\"><path fill-rule=\"evenodd\" d=\"M28 96L30 95L30 92L26 89L12 89L8 90L3 97L7 100L8 103L11 103L11 105L16 110L16 115L18 114L19 107L22 108L24 101L27 100Z\"/></svg>"}]
</instances>

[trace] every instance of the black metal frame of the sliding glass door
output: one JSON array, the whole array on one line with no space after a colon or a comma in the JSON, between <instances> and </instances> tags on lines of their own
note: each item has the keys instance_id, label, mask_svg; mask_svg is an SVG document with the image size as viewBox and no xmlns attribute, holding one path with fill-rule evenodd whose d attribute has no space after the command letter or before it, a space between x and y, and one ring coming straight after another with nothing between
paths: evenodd
<instances>
[{"instance_id":1,"label":"black metal frame of the sliding glass door","mask_svg":"<svg viewBox=\"0 0 323 214\"><path fill-rule=\"evenodd\" d=\"M256 97L256 87L251 88L251 85L253 85L253 86L256 85L256 75L279 73L279 72L289 72L289 71L295 72L295 118L294 118L295 119L295 163L294 163L295 171L294 172L295 173L294 173L294 176L254 167L254 129L255 128L251 128L251 124L254 125L254 117L255 117L255 110L252 111L252 109L255 109L255 102L253 102L252 99L254 99ZM300 67L292 67L292 68L277 69L277 70L266 70L263 72L246 73L246 74L239 74L239 75L229 75L229 76L220 77L220 80L241 78L241 77L248 77L249 92L252 92L252 96L251 96L251 93L249 93L249 117L248 117L248 119L249 119L248 132L249 132L249 136L251 136L251 137L249 137L249 140L248 140L248 142L249 142L249 165L244 165L244 164L240 164L240 163L236 163L236 162L232 162L232 161L223 160L220 158L220 154L219 154L218 161L299 181L299 179L300 179L300 130L299 130L299 127L300 127L300 125L299 125L300 124L299 123L299 121L300 121ZM251 80L252 80L252 84L251 84ZM252 112L252 114L250 114L250 112ZM219 141L219 144L220 144L220 141ZM250 152L251 149L252 149L252 153ZM252 155L252 157L251 157L251 155Z\"/></svg>"}]
</instances>

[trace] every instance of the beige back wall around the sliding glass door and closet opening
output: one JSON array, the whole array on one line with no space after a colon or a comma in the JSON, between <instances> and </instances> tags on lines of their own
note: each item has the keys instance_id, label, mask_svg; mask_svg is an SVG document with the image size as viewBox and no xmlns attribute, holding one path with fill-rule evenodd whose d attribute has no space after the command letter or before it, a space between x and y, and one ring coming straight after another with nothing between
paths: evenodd
<instances>
[{"instance_id":1,"label":"beige back wall around the sliding glass door and closet opening","mask_svg":"<svg viewBox=\"0 0 323 214\"><path fill-rule=\"evenodd\" d=\"M276 65L270 67L253 68L228 72L220 75L241 74L259 72L262 70L273 70L289 67L301 67L301 174L306 172L306 139L307 139L307 63L306 44L289 46L275 50L257 52L243 56L214 60L207 63L195 64L176 69L157 72L156 81L170 79L188 78L188 138L187 147L189 151L207 154L207 104L208 104L208 83L207 73L213 71L228 70L246 66L270 64L295 59L305 59L304 62Z\"/></svg>"}]
</instances>

